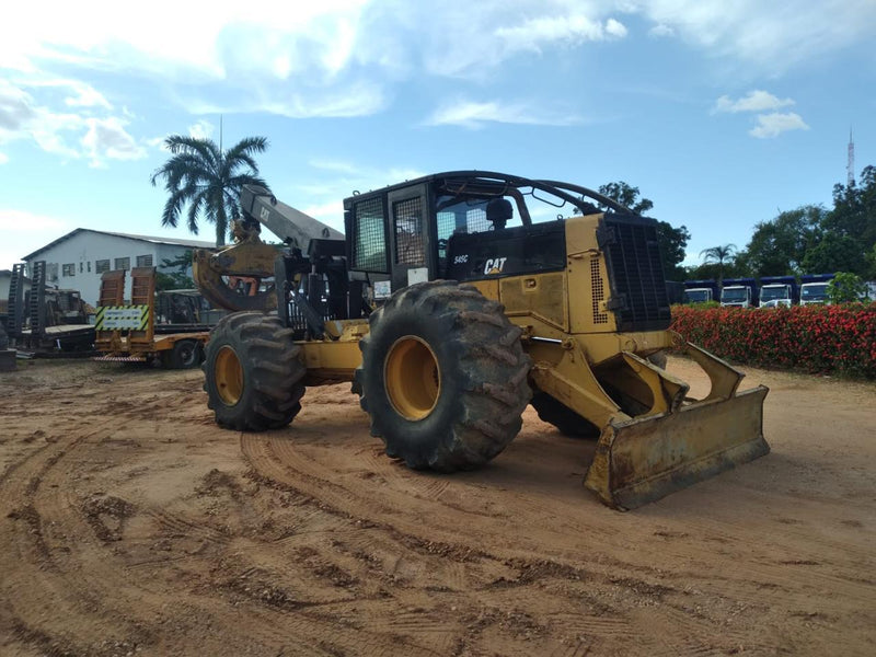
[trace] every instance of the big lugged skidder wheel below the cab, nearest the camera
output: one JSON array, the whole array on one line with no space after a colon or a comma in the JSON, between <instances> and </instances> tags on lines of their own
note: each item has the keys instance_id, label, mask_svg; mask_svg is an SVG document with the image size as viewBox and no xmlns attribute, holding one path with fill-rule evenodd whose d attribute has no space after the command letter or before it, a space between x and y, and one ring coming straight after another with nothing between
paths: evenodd
<instances>
[{"instance_id":1,"label":"big lugged skidder wheel below the cab, nearest the camera","mask_svg":"<svg viewBox=\"0 0 876 657\"><path fill-rule=\"evenodd\" d=\"M531 364L503 311L472 286L438 280L371 313L354 390L387 454L415 469L472 470L517 436Z\"/></svg>"}]
</instances>

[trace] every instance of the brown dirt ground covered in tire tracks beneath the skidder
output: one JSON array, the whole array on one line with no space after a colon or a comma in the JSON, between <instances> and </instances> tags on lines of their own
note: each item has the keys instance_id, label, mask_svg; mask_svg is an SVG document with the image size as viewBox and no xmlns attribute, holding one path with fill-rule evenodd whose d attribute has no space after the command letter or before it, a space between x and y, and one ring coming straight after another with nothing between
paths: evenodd
<instances>
[{"instance_id":1,"label":"brown dirt ground covered in tire tracks beneath the skidder","mask_svg":"<svg viewBox=\"0 0 876 657\"><path fill-rule=\"evenodd\" d=\"M433 475L348 384L239 434L198 370L21 364L0 655L874 655L876 385L748 371L772 453L622 514L531 408L485 470Z\"/></svg>"}]
</instances>

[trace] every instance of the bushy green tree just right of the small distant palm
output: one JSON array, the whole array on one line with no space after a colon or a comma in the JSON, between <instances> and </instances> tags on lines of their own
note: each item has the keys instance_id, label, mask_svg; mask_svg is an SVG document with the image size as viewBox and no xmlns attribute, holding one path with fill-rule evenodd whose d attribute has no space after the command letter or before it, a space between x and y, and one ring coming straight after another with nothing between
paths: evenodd
<instances>
[{"instance_id":1,"label":"bushy green tree just right of the small distant palm","mask_svg":"<svg viewBox=\"0 0 876 657\"><path fill-rule=\"evenodd\" d=\"M754 226L754 233L739 254L752 276L800 274L806 253L818 243L827 216L820 206L800 206Z\"/></svg>"}]
</instances>

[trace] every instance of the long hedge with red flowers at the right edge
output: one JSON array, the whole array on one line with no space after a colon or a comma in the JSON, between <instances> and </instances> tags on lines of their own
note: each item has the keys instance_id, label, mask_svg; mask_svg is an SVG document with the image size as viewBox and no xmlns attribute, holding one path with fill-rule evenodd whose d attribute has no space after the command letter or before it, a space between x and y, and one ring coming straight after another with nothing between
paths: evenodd
<instances>
[{"instance_id":1,"label":"long hedge with red flowers at the right edge","mask_svg":"<svg viewBox=\"0 0 876 657\"><path fill-rule=\"evenodd\" d=\"M876 303L672 307L684 339L736 362L876 379Z\"/></svg>"}]
</instances>

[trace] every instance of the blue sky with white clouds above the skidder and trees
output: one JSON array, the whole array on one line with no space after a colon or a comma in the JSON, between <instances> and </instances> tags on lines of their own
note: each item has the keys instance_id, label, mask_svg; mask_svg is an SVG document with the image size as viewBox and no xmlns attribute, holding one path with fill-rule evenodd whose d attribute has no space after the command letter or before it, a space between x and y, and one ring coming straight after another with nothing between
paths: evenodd
<instances>
[{"instance_id":1,"label":"blue sky with white clouds above the skidder and trees","mask_svg":"<svg viewBox=\"0 0 876 657\"><path fill-rule=\"evenodd\" d=\"M829 206L850 127L855 173L876 164L876 0L11 4L0 268L74 228L191 237L149 178L220 115L337 228L354 189L437 171L623 180L688 227L687 264Z\"/></svg>"}]
</instances>

